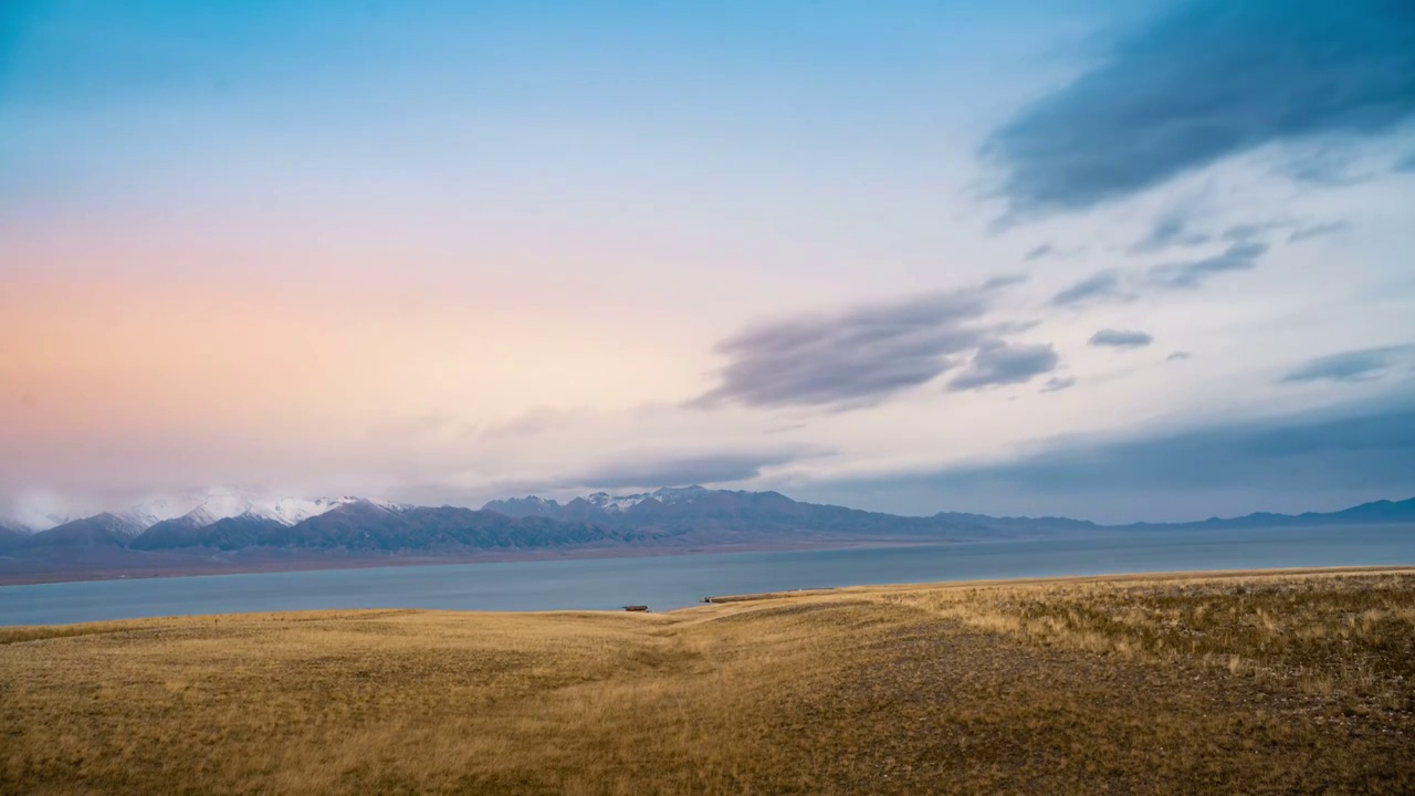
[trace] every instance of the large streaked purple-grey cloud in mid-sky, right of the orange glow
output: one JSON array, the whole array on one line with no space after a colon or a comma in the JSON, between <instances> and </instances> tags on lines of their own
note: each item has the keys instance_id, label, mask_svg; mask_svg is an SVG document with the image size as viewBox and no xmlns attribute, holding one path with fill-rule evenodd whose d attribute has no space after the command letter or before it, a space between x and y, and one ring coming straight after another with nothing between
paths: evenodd
<instances>
[{"instance_id":1,"label":"large streaked purple-grey cloud in mid-sky, right of the orange glow","mask_svg":"<svg viewBox=\"0 0 1415 796\"><path fill-rule=\"evenodd\" d=\"M961 367L978 348L1000 344L1016 327L981 319L998 290L1022 279L999 276L968 290L747 329L717 344L729 358L720 384L691 405L879 404Z\"/></svg>"}]
</instances>

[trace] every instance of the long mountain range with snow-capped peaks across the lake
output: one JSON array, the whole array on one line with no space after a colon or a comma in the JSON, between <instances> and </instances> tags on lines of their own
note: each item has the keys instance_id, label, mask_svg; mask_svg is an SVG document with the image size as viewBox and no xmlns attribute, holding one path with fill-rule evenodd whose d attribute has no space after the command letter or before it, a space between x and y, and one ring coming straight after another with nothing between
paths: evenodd
<instances>
[{"instance_id":1,"label":"long mountain range with snow-capped peaks across the lake","mask_svg":"<svg viewBox=\"0 0 1415 796\"><path fill-rule=\"evenodd\" d=\"M180 513L178 513L180 511ZM528 496L483 508L405 506L361 497L252 500L205 493L149 501L44 530L0 521L0 557L116 548L153 551L342 551L444 555L584 548L710 548L763 544L964 541L1156 528L1415 523L1415 499L1343 511L1248 514L1182 524L1097 525L1064 517L940 513L903 517L802 503L777 491L700 486L594 493L567 503Z\"/></svg>"}]
</instances>

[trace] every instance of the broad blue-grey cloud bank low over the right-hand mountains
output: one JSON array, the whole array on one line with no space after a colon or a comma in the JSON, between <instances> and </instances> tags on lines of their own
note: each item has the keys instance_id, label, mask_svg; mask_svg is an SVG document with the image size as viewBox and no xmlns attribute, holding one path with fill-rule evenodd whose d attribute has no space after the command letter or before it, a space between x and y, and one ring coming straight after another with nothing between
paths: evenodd
<instances>
[{"instance_id":1,"label":"broad blue-grey cloud bank low over the right-hand mountains","mask_svg":"<svg viewBox=\"0 0 1415 796\"><path fill-rule=\"evenodd\" d=\"M807 493L807 490L798 490ZM1415 494L1415 392L1131 438L1054 438L1003 462L818 484L802 497L930 514L1199 520Z\"/></svg>"}]
</instances>

